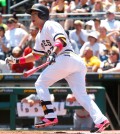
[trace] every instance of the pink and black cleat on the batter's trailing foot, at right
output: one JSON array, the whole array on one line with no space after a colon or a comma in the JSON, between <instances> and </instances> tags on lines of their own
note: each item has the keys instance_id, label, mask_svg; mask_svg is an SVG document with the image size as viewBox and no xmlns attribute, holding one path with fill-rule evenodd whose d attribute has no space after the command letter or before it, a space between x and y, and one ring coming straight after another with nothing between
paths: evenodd
<instances>
[{"instance_id":1,"label":"pink and black cleat on the batter's trailing foot, at right","mask_svg":"<svg viewBox=\"0 0 120 134\"><path fill-rule=\"evenodd\" d=\"M100 124L96 124L95 127L90 132L92 132L92 133L101 133L107 127L109 127L109 125L110 125L110 122L108 120L105 120Z\"/></svg>"}]
</instances>

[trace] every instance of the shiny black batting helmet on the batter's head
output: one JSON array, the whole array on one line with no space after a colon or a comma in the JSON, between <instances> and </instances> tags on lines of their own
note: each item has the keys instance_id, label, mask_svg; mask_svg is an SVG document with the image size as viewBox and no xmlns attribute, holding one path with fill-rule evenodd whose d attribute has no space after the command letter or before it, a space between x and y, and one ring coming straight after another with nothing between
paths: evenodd
<instances>
[{"instance_id":1,"label":"shiny black batting helmet on the batter's head","mask_svg":"<svg viewBox=\"0 0 120 134\"><path fill-rule=\"evenodd\" d=\"M38 17L42 20L48 20L49 19L49 10L46 6L42 4L34 4L31 9L28 11L29 14L31 14L32 11L38 11Z\"/></svg>"}]
</instances>

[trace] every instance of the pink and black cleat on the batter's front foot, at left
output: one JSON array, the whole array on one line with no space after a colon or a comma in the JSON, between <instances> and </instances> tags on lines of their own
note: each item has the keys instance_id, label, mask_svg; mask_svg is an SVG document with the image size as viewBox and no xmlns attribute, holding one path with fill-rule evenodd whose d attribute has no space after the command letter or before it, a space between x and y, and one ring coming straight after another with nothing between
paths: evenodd
<instances>
[{"instance_id":1,"label":"pink and black cleat on the batter's front foot, at left","mask_svg":"<svg viewBox=\"0 0 120 134\"><path fill-rule=\"evenodd\" d=\"M41 122L35 124L35 128L42 128L42 127L47 127L47 126L54 126L58 123L57 118L44 118Z\"/></svg>"}]
</instances>

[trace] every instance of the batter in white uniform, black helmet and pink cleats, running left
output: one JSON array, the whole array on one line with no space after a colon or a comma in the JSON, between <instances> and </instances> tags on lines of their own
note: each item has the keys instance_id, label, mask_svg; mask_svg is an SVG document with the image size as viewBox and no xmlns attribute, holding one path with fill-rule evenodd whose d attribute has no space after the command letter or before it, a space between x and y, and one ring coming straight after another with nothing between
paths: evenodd
<instances>
[{"instance_id":1,"label":"batter in white uniform, black helmet and pink cleats, running left","mask_svg":"<svg viewBox=\"0 0 120 134\"><path fill-rule=\"evenodd\" d=\"M86 67L81 58L76 55L63 27L49 20L49 10L41 4L34 4L29 10L31 21L40 31L36 37L33 51L21 58L8 57L9 64L33 62L44 55L48 56L49 65L35 82L35 88L45 114L45 118L35 124L36 128L55 125L57 115L50 101L48 87L55 82L66 79L77 101L89 112L95 127L91 132L101 132L109 126L108 119L102 114L98 106L86 93Z\"/></svg>"}]
</instances>

